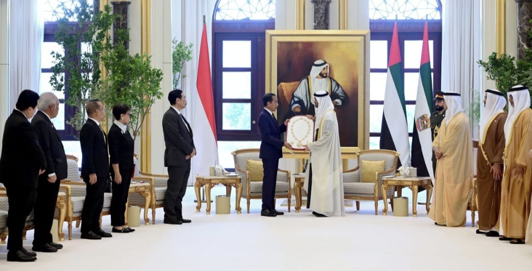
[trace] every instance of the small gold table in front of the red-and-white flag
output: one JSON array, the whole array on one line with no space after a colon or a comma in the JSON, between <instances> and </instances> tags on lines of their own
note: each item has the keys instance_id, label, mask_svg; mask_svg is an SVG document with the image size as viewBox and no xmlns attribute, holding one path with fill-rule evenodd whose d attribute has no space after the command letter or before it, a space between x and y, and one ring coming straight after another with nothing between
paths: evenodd
<instances>
[{"instance_id":1,"label":"small gold table in front of the red-and-white flag","mask_svg":"<svg viewBox=\"0 0 532 271\"><path fill-rule=\"evenodd\" d=\"M236 211L238 214L242 213L240 208L240 198L242 198L242 180L240 176L196 176L196 183L194 184L194 190L196 191L196 198L198 205L196 211L201 209L200 188L205 185L205 198L207 200L207 215L211 214L211 188L213 185L223 184L226 187L226 196L231 196L231 187L236 189Z\"/></svg>"}]
</instances>

